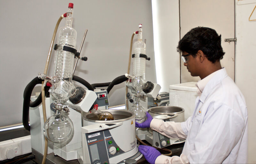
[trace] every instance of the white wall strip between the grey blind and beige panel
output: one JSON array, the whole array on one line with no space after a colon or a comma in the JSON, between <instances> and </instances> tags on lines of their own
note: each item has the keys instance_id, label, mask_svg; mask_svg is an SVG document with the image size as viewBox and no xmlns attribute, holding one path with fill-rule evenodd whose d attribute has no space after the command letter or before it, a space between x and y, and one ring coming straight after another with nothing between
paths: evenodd
<instances>
[{"instance_id":1,"label":"white wall strip between the grey blind and beige panel","mask_svg":"<svg viewBox=\"0 0 256 164\"><path fill-rule=\"evenodd\" d=\"M160 92L169 92L169 85L180 83L179 1L152 0L152 14L157 83Z\"/></svg>"}]
</instances>

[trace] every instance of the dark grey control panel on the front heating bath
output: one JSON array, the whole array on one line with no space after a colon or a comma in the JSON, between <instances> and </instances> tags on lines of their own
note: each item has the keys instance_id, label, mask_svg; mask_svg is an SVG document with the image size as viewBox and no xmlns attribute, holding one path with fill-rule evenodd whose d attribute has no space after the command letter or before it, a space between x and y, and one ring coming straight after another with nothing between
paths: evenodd
<instances>
[{"instance_id":1,"label":"dark grey control panel on the front heating bath","mask_svg":"<svg viewBox=\"0 0 256 164\"><path fill-rule=\"evenodd\" d=\"M85 133L85 139L92 164L108 164L109 158L124 153L109 130Z\"/></svg>"}]
</instances>

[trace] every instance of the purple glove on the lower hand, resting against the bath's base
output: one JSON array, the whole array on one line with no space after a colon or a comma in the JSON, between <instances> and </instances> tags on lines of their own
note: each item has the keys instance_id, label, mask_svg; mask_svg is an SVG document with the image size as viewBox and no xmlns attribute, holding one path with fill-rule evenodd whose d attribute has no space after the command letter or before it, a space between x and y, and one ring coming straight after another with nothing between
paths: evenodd
<instances>
[{"instance_id":1,"label":"purple glove on the lower hand, resting against the bath's base","mask_svg":"<svg viewBox=\"0 0 256 164\"><path fill-rule=\"evenodd\" d=\"M140 153L144 155L145 159L151 164L155 163L156 158L161 155L161 153L156 150L156 148L151 146L140 145L138 149Z\"/></svg>"}]
</instances>

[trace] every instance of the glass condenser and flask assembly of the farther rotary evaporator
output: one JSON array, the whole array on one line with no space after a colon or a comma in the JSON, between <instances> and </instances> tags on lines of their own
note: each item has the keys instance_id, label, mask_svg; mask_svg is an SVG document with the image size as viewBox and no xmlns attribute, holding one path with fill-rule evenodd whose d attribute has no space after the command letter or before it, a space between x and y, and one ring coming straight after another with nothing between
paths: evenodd
<instances>
[{"instance_id":1,"label":"glass condenser and flask assembly of the farther rotary evaporator","mask_svg":"<svg viewBox=\"0 0 256 164\"><path fill-rule=\"evenodd\" d=\"M158 93L161 89L159 84L147 82L145 78L146 60L150 58L146 55L146 43L142 41L142 25L139 25L139 30L134 32L138 34L138 40L134 43L133 58L133 74L130 75L130 61L128 63L128 72L125 76L128 78L126 82L126 108L135 113L135 121L142 123L147 119L146 112L148 111L147 98L159 98ZM133 35L132 35L133 39ZM131 41L132 42L132 41ZM131 44L132 45L132 44ZM129 102L128 102L129 99Z\"/></svg>"}]
</instances>

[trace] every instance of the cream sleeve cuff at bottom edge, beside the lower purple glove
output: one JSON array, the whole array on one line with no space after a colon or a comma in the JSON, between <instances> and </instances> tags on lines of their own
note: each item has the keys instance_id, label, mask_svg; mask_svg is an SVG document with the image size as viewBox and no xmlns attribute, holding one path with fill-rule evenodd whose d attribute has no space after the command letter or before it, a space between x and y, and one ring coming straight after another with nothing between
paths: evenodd
<instances>
[{"instance_id":1,"label":"cream sleeve cuff at bottom edge, beside the lower purple glove","mask_svg":"<svg viewBox=\"0 0 256 164\"><path fill-rule=\"evenodd\" d=\"M159 155L157 158L156 158L156 161L155 163L172 163L172 164L177 164L177 163L182 163L182 164L188 164L189 161L188 161L188 158L186 155L184 154L180 154L180 157L179 156L172 156L172 157L168 157L168 156L165 156L165 155Z\"/></svg>"}]
</instances>

